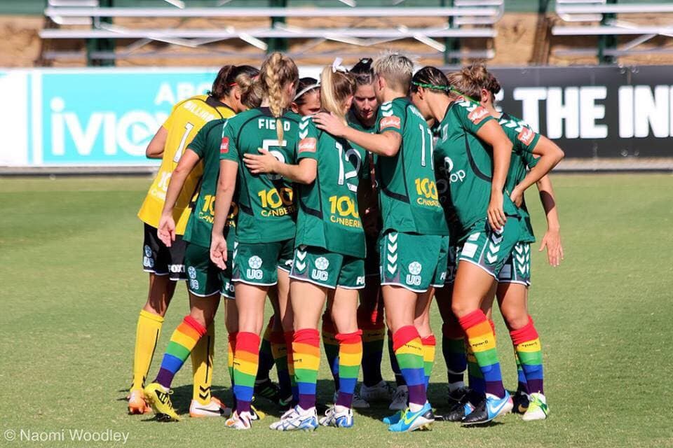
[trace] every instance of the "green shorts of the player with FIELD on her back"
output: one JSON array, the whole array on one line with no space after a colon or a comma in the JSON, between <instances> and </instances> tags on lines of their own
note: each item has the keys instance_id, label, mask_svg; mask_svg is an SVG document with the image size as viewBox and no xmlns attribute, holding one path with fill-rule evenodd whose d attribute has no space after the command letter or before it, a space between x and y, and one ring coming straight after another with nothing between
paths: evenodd
<instances>
[{"instance_id":1,"label":"green shorts of the player with FIELD on her back","mask_svg":"<svg viewBox=\"0 0 673 448\"><path fill-rule=\"evenodd\" d=\"M234 283L273 286L278 283L278 269L289 272L292 267L294 239L272 243L234 243Z\"/></svg>"}]
</instances>

